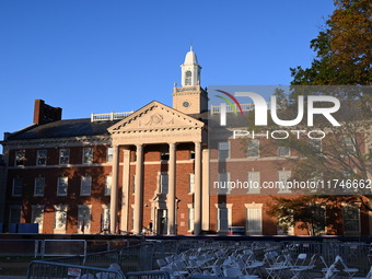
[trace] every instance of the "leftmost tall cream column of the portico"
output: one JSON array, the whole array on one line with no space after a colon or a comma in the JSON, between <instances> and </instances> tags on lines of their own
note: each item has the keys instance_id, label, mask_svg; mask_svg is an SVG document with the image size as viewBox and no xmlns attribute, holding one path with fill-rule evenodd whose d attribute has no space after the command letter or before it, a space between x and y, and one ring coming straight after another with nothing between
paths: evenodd
<instances>
[{"instance_id":1,"label":"leftmost tall cream column of the portico","mask_svg":"<svg viewBox=\"0 0 372 279\"><path fill-rule=\"evenodd\" d=\"M119 147L113 147L112 189L109 194L109 232L116 233L117 223L117 183L119 170Z\"/></svg>"}]
</instances>

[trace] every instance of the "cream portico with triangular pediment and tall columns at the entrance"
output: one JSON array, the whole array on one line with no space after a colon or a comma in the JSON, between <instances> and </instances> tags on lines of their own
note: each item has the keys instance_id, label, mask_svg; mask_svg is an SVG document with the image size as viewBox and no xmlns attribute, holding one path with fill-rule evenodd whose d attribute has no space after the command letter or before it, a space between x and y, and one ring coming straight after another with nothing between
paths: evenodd
<instances>
[{"instance_id":1,"label":"cream portico with triangular pediment and tall columns at the entrance","mask_svg":"<svg viewBox=\"0 0 372 279\"><path fill-rule=\"evenodd\" d=\"M154 220L160 232L162 222L166 225L166 234L177 233L177 146L182 143L194 144L194 233L201 230L201 160L202 142L206 142L206 127L202 121L179 113L159 102L152 102L132 115L112 126L108 131L113 139L113 172L111 195L111 231L115 232L118 223L118 209L120 209L120 228L128 231L128 216L132 206L132 232L141 233L143 223L143 207L151 205L151 220ZM166 146L167 159L167 190L156 187L152 200L144 200L143 167L144 148L151 144ZM123 150L124 154L119 154ZM136 153L135 162L130 162L130 150ZM121 163L119 159L123 158ZM130 164L135 164L135 202L129 205ZM120 170L121 168L121 170ZM123 174L123 175L121 175ZM123 177L121 205L119 206L118 185ZM156 210L163 210L161 216ZM166 210L166 211L164 211ZM160 220L160 218L164 218ZM163 231L164 233L164 231Z\"/></svg>"}]
</instances>

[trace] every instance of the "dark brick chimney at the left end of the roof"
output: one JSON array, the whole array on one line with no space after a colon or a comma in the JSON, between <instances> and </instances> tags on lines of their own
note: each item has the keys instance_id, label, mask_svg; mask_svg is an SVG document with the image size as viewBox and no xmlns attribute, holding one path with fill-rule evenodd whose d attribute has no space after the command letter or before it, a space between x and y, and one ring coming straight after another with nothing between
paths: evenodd
<instances>
[{"instance_id":1,"label":"dark brick chimney at the left end of the roof","mask_svg":"<svg viewBox=\"0 0 372 279\"><path fill-rule=\"evenodd\" d=\"M35 100L34 124L42 125L62 119L62 108L45 104L44 100Z\"/></svg>"}]
</instances>

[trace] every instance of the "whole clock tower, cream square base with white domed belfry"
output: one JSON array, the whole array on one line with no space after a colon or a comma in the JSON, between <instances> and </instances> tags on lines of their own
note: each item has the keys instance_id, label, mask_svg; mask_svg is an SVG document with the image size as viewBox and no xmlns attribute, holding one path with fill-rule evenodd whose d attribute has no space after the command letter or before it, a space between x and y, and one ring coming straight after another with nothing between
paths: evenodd
<instances>
[{"instance_id":1,"label":"whole clock tower, cream square base with white domed belfry","mask_svg":"<svg viewBox=\"0 0 372 279\"><path fill-rule=\"evenodd\" d=\"M190 47L181 66L181 84L173 89L173 108L184 114L200 114L208 111L207 92L200 88L200 70L196 54Z\"/></svg>"}]
</instances>

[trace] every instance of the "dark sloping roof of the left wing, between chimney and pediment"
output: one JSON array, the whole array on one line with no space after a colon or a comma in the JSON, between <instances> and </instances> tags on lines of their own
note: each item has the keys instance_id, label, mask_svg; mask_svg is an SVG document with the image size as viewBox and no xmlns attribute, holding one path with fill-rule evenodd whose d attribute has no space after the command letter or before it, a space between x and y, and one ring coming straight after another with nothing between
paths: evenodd
<instances>
[{"instance_id":1,"label":"dark sloping roof of the left wing, between chimney and pediment","mask_svg":"<svg viewBox=\"0 0 372 279\"><path fill-rule=\"evenodd\" d=\"M8 136L7 140L27 140L43 138L68 138L108 135L107 128L113 121L91 121L90 118L58 120L43 125L33 125Z\"/></svg>"}]
</instances>

